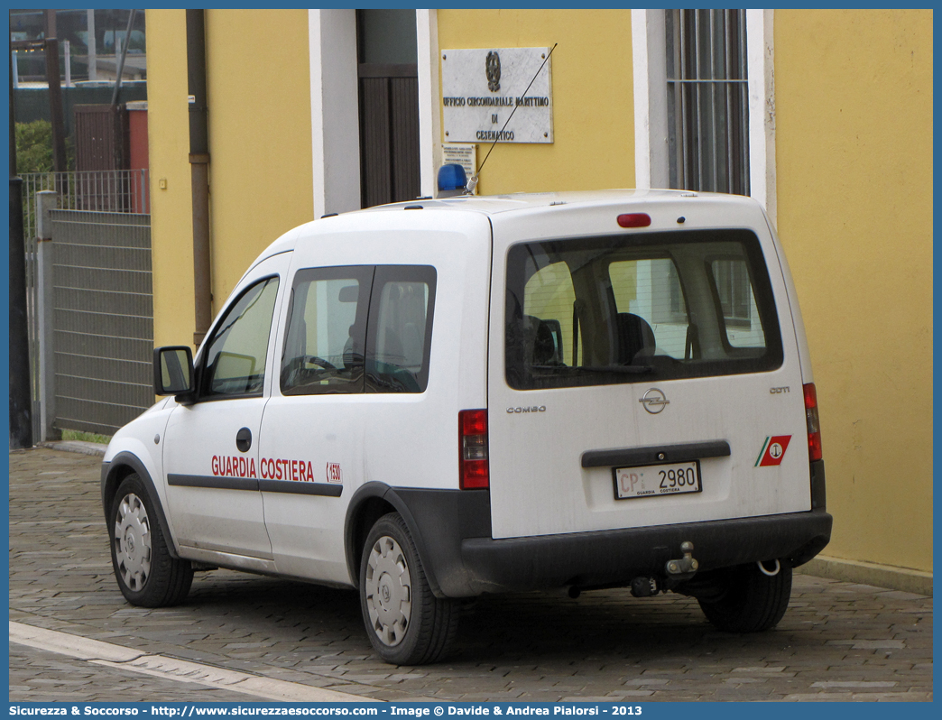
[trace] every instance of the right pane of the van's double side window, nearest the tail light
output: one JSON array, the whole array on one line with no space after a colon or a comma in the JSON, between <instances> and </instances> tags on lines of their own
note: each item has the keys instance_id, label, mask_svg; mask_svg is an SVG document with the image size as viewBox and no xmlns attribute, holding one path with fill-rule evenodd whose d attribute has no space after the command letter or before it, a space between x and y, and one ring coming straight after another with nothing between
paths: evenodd
<instances>
[{"instance_id":1,"label":"right pane of the van's double side window, nearest the tail light","mask_svg":"<svg viewBox=\"0 0 942 720\"><path fill-rule=\"evenodd\" d=\"M366 337L366 392L424 392L429 383L435 269L376 269Z\"/></svg>"}]
</instances>

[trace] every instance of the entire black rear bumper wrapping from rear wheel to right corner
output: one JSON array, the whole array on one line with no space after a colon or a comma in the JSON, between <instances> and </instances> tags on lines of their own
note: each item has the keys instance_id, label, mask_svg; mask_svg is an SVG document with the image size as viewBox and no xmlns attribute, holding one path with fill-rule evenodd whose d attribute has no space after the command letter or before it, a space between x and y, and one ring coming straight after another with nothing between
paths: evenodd
<instances>
[{"instance_id":1,"label":"entire black rear bumper wrapping from rear wheel to right corner","mask_svg":"<svg viewBox=\"0 0 942 720\"><path fill-rule=\"evenodd\" d=\"M501 540L490 536L487 490L387 487L383 497L413 532L432 592L473 597L663 575L667 561L683 556L680 544L687 540L701 571L773 559L802 565L831 538L819 475L813 509L804 513Z\"/></svg>"}]
</instances>

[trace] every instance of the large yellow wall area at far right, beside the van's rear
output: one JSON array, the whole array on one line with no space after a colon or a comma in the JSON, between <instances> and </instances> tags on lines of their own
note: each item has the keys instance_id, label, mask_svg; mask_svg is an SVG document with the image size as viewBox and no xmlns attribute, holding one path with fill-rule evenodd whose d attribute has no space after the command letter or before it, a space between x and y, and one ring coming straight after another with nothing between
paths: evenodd
<instances>
[{"instance_id":1,"label":"large yellow wall area at far right, beside the van's rear","mask_svg":"<svg viewBox=\"0 0 942 720\"><path fill-rule=\"evenodd\" d=\"M933 14L777 10L778 231L815 370L824 554L933 563Z\"/></svg>"}]
</instances>

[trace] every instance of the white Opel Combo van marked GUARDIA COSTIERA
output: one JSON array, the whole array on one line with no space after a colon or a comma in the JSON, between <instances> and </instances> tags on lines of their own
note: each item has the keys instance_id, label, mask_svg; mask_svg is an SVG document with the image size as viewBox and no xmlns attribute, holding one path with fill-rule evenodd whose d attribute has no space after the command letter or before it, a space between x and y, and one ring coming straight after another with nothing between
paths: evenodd
<instances>
[{"instance_id":1,"label":"white Opel Combo van marked GUARDIA COSTIERA","mask_svg":"<svg viewBox=\"0 0 942 720\"><path fill-rule=\"evenodd\" d=\"M754 201L612 190L385 205L252 264L114 436L124 597L228 567L360 591L389 663L460 598L629 586L766 630L831 532L781 245Z\"/></svg>"}]
</instances>

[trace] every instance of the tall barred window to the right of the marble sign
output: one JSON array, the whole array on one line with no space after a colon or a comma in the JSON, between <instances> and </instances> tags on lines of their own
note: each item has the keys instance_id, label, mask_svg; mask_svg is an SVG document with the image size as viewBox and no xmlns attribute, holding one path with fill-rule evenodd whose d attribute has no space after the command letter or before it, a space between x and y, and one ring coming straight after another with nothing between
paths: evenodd
<instances>
[{"instance_id":1,"label":"tall barred window to the right of the marble sign","mask_svg":"<svg viewBox=\"0 0 942 720\"><path fill-rule=\"evenodd\" d=\"M746 11L665 10L672 188L749 194Z\"/></svg>"}]
</instances>

